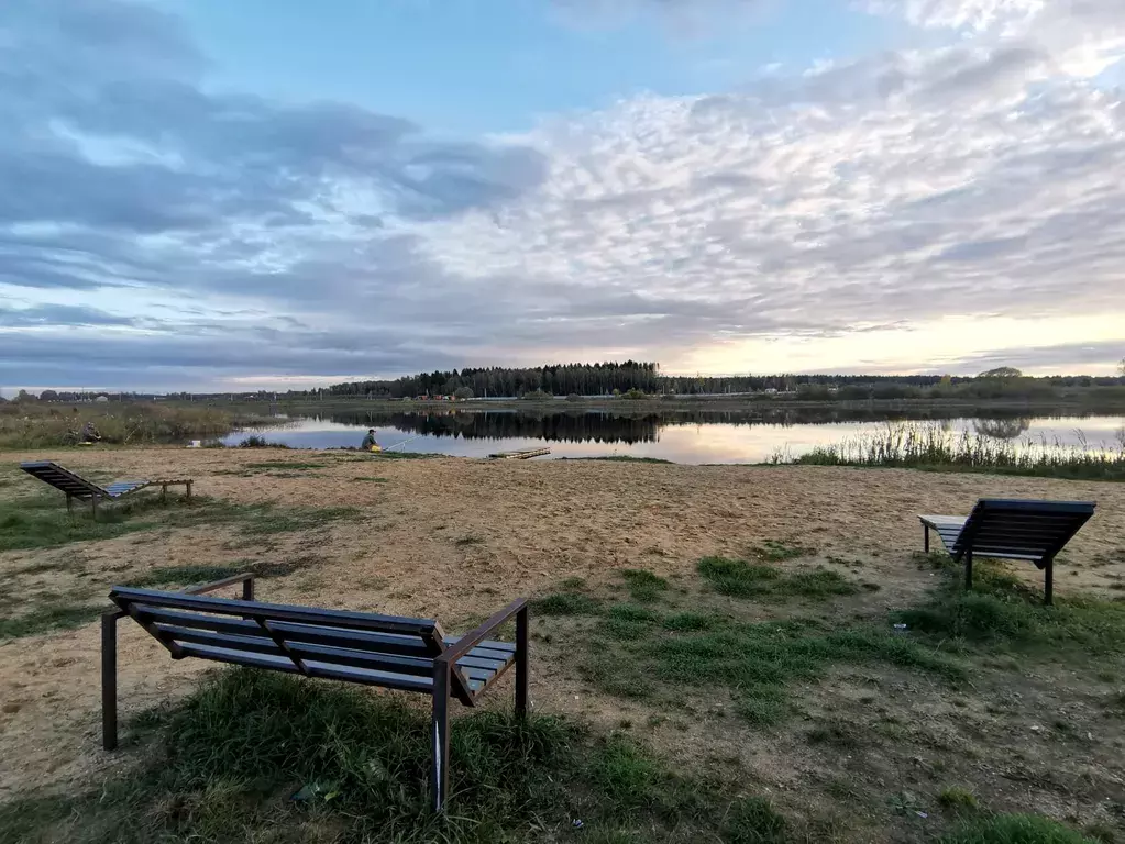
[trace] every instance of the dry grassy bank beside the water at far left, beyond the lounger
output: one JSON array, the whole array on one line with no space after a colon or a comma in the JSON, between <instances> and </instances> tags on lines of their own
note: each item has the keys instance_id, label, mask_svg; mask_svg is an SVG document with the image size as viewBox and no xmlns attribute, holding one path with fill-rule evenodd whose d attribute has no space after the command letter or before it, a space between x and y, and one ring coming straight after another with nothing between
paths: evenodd
<instances>
[{"instance_id":1,"label":"dry grassy bank beside the water at far left, beyond the lounger","mask_svg":"<svg viewBox=\"0 0 1125 844\"><path fill-rule=\"evenodd\" d=\"M183 443L230 434L269 419L233 408L110 401L92 405L6 402L0 405L0 448L73 445L92 423L101 442L116 445Z\"/></svg>"}]
</instances>

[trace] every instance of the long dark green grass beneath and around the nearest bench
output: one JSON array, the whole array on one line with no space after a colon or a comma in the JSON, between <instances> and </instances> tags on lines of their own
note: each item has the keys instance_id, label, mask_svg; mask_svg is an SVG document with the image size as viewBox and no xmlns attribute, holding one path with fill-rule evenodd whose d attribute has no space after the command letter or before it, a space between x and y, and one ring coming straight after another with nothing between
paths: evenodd
<instances>
[{"instance_id":1,"label":"long dark green grass beneath and around the nearest bench","mask_svg":"<svg viewBox=\"0 0 1125 844\"><path fill-rule=\"evenodd\" d=\"M621 734L558 718L454 719L450 804L429 809L429 717L388 696L264 671L217 672L132 722L136 766L89 793L0 806L12 844L773 842L768 802L685 778ZM292 799L294 796L300 799Z\"/></svg>"}]
</instances>

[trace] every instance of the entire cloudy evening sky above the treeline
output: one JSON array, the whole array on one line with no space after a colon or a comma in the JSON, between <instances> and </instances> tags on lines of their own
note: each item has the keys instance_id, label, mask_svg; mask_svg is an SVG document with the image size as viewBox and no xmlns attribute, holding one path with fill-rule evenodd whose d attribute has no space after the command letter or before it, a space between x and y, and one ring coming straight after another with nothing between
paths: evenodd
<instances>
[{"instance_id":1,"label":"entire cloudy evening sky above the treeline","mask_svg":"<svg viewBox=\"0 0 1125 844\"><path fill-rule=\"evenodd\" d=\"M3 0L0 384L1113 374L1122 0Z\"/></svg>"}]
</instances>

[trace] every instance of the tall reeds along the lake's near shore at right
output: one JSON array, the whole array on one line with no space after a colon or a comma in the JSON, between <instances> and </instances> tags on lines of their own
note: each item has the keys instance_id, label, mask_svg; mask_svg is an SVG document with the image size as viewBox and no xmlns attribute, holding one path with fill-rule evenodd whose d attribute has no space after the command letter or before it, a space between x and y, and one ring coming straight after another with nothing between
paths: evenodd
<instances>
[{"instance_id":1,"label":"tall reeds along the lake's near shore at right","mask_svg":"<svg viewBox=\"0 0 1125 844\"><path fill-rule=\"evenodd\" d=\"M1123 437L1125 434L1118 435L1116 443L1063 445L1045 439L998 441L982 434L958 434L937 425L902 424L890 425L870 436L818 446L793 462L1125 481Z\"/></svg>"}]
</instances>

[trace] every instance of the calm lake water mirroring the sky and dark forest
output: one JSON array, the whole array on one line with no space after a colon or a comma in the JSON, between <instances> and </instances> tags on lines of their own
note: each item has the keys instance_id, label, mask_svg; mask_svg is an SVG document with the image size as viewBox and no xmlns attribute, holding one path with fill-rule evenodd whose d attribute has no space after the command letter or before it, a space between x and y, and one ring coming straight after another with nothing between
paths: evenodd
<instances>
[{"instance_id":1,"label":"calm lake water mirroring the sky and dark forest","mask_svg":"<svg viewBox=\"0 0 1125 844\"><path fill-rule=\"evenodd\" d=\"M814 446L876 433L888 423L919 420L952 430L1019 443L1045 437L1116 448L1123 416L1014 415L942 418L935 412L872 412L821 408L755 412L684 411L619 415L606 411L539 412L448 410L442 412L346 412L303 417L254 433L295 448L359 446L375 427L384 448L486 457L501 451L550 446L550 460L630 455L675 463L758 463L777 453L798 456ZM224 442L236 445L245 434Z\"/></svg>"}]
</instances>

